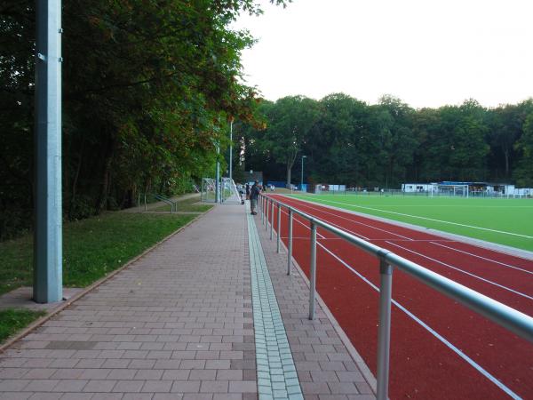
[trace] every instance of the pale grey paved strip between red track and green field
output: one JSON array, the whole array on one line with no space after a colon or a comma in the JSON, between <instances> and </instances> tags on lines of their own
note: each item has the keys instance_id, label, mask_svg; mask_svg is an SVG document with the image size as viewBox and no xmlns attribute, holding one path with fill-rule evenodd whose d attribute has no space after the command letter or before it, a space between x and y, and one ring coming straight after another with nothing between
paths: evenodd
<instances>
[{"instance_id":1,"label":"pale grey paved strip between red track and green field","mask_svg":"<svg viewBox=\"0 0 533 400\"><path fill-rule=\"evenodd\" d=\"M283 194L280 194L280 195L281 196L286 196L286 195L283 195ZM402 221L399 221L399 220L389 220L389 219L384 218L384 217L377 217L375 215L365 214L364 212L356 212L356 211L353 211L353 210L346 210L346 208L336 207L334 205L315 203L315 202L312 202L310 200L305 200L303 198L290 197L290 196L286 196L286 197L287 198L295 198L295 199L297 199L299 201L302 201L302 202L305 202L305 203L308 203L308 204L322 205L322 206L324 206L326 208L329 208L329 209L335 210L335 211L348 212L348 213L351 213L351 214L354 214L354 215L359 215L361 217L365 217L365 218L368 218L370 220L378 220L378 221L381 221L381 222L386 222L387 224L396 225L398 227L410 228L410 229L413 229L413 230L417 230L418 232L425 232L425 233L428 233L428 234L431 234L431 235L442 236L442 237L445 237L445 238L450 239L450 240L456 240L456 241L460 241L460 242L463 242L463 243L466 243L466 244L473 244L473 245L476 245L476 246L479 246L479 247L483 247L483 248L488 249L488 250L492 250L493 252L503 252L505 254L509 254L509 255L514 256L514 257L520 257L520 258L525 259L525 260L533 260L533 252L529 252L528 250L523 250L523 249L519 249L519 248L516 248L516 247L506 246L505 244L497 244L497 243L487 242L485 240L476 239L474 237L452 234L452 233L444 232L442 230L438 230L438 229L434 229L434 228L424 228L424 227L421 227L420 225L410 224L409 222L402 222Z\"/></svg>"}]
</instances>

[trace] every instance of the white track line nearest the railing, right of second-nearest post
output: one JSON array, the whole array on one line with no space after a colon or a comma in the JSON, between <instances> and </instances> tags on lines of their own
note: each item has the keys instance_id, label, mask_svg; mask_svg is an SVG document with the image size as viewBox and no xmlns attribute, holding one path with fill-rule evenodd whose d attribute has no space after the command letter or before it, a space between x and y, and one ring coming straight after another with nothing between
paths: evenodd
<instances>
[{"instance_id":1,"label":"white track line nearest the railing, right of second-nearest post","mask_svg":"<svg viewBox=\"0 0 533 400\"><path fill-rule=\"evenodd\" d=\"M379 292L378 286L376 286L375 284L372 284L367 277L362 276L362 274L357 272L354 268L352 268L352 266L348 265L344 260L340 259L338 255L334 254L333 252L330 252L330 250L327 249L322 244L318 244L318 245L321 246L322 249L324 249L326 252L329 252L333 258L338 260L346 268L352 271L356 276L359 276L363 282L365 282L366 284L369 284L372 289L374 289L376 292ZM418 316L415 316L413 313L410 312L410 310L403 307L402 304L400 304L398 301L391 299L391 302L394 304L394 306L401 309L407 316L410 316L410 318L412 318L417 324L419 324L424 329L426 329L427 332L430 332L432 335L434 335L435 338L437 338L438 340L441 340L441 342L445 346L447 346L449 349L454 351L457 354L457 356L460 356L466 361L466 363L472 365L473 368L475 368L478 372L481 373L481 375L483 375L485 378L487 378L492 383L494 383L498 388L502 389L508 396L511 396L515 400L521 400L521 396L518 396L516 393L514 393L512 389L507 388L502 382L497 380L495 376L493 376L490 372L485 370L480 364L477 364L475 361L473 361L472 358L470 358L469 356L466 356L465 353L463 353L459 348L454 346L449 340L445 339L439 332L436 332L431 326L429 326L424 321L422 321L420 318L418 318Z\"/></svg>"}]
</instances>

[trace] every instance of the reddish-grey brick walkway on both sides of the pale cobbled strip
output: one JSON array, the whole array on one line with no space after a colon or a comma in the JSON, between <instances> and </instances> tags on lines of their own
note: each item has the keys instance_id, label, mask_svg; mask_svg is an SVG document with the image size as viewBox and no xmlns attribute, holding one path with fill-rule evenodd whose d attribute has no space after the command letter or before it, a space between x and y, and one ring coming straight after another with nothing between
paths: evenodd
<instances>
[{"instance_id":1,"label":"reddish-grey brick walkway on both sides of the pale cobbled strip","mask_svg":"<svg viewBox=\"0 0 533 400\"><path fill-rule=\"evenodd\" d=\"M374 398L322 308L306 319L304 280L259 236L304 397ZM247 218L219 205L8 349L0 399L245 400L257 374Z\"/></svg>"}]
</instances>

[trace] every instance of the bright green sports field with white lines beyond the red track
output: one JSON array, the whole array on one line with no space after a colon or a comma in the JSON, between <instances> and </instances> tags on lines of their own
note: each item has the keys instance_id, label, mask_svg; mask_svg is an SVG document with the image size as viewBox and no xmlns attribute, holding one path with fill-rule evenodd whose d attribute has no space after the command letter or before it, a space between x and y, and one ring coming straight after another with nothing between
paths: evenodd
<instances>
[{"instance_id":1,"label":"bright green sports field with white lines beyond the red track","mask_svg":"<svg viewBox=\"0 0 533 400\"><path fill-rule=\"evenodd\" d=\"M352 194L294 197L533 251L533 199Z\"/></svg>"}]
</instances>

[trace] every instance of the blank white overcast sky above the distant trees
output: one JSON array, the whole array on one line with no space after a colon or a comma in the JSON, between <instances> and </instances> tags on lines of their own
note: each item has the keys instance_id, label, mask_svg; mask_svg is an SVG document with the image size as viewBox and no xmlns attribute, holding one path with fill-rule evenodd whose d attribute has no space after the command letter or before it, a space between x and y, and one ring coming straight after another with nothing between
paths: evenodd
<instances>
[{"instance_id":1,"label":"blank white overcast sky above the distant trees","mask_svg":"<svg viewBox=\"0 0 533 400\"><path fill-rule=\"evenodd\" d=\"M414 108L533 96L533 0L294 0L235 25L247 84L268 100L383 94Z\"/></svg>"}]
</instances>

